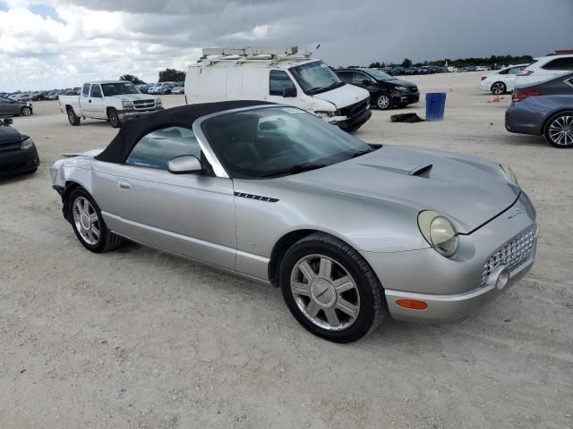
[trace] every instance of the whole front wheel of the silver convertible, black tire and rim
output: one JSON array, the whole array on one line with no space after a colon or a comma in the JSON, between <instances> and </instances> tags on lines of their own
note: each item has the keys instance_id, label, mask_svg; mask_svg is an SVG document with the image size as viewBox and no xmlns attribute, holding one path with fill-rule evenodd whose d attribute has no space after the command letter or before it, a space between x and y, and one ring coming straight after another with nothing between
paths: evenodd
<instances>
[{"instance_id":1,"label":"whole front wheel of the silver convertible, black tire and rim","mask_svg":"<svg viewBox=\"0 0 573 429\"><path fill-rule=\"evenodd\" d=\"M356 341L388 314L382 286L344 241L313 233L286 251L279 284L286 307L306 330L329 341Z\"/></svg>"}]
</instances>

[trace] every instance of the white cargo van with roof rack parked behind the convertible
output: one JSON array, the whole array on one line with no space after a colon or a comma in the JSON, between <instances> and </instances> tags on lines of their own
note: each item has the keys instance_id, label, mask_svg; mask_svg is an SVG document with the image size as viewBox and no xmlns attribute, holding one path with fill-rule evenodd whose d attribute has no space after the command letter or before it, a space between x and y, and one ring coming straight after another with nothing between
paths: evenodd
<instances>
[{"instance_id":1,"label":"white cargo van with roof rack parked behind the convertible","mask_svg":"<svg viewBox=\"0 0 573 429\"><path fill-rule=\"evenodd\" d=\"M339 80L327 64L296 47L203 49L203 59L187 69L185 99L294 105L349 131L372 116L367 90Z\"/></svg>"}]
</instances>

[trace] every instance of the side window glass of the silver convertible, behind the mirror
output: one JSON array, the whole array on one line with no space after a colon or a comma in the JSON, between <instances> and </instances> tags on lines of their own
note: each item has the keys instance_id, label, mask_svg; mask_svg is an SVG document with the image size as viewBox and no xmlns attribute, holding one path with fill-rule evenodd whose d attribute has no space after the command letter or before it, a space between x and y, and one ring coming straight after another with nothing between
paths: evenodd
<instances>
[{"instance_id":1,"label":"side window glass of the silver convertible, behind the mirror","mask_svg":"<svg viewBox=\"0 0 573 429\"><path fill-rule=\"evenodd\" d=\"M177 156L192 155L201 160L201 147L193 131L184 127L167 127L151 131L133 147L125 164L166 170Z\"/></svg>"}]
</instances>

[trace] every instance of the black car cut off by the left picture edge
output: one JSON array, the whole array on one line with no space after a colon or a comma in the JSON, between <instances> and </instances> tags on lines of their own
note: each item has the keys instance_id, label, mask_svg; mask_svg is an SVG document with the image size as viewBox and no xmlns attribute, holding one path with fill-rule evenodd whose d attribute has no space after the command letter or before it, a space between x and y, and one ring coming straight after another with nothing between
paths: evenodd
<instances>
[{"instance_id":1,"label":"black car cut off by the left picture edge","mask_svg":"<svg viewBox=\"0 0 573 429\"><path fill-rule=\"evenodd\" d=\"M36 172L38 151L30 137L10 126L12 118L0 121L0 176L17 172Z\"/></svg>"}]
</instances>

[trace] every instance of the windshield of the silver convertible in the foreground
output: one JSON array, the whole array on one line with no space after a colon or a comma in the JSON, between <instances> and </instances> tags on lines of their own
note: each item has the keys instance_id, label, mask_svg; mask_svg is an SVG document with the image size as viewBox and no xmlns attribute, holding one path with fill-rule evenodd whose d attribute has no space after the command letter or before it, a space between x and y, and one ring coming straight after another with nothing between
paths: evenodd
<instances>
[{"instance_id":1,"label":"windshield of the silver convertible in the foreground","mask_svg":"<svg viewBox=\"0 0 573 429\"><path fill-rule=\"evenodd\" d=\"M240 179L313 170L377 148L295 107L221 114L201 129L229 175Z\"/></svg>"}]
</instances>

